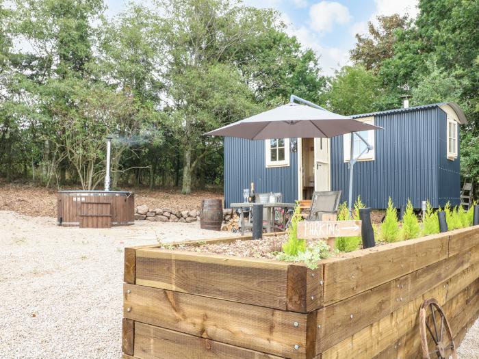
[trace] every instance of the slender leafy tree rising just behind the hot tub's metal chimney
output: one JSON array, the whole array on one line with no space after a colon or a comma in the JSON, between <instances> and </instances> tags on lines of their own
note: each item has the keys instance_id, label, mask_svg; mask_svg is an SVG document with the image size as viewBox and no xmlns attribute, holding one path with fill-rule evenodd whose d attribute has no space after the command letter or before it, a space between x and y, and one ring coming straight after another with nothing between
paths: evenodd
<instances>
[{"instance_id":1,"label":"slender leafy tree rising just behind the hot tub's metal chimney","mask_svg":"<svg viewBox=\"0 0 479 359\"><path fill-rule=\"evenodd\" d=\"M138 5L129 5L111 22L103 20L99 42L96 71L131 102L127 116L122 116L112 133L112 188L116 188L120 173L125 172L124 165L128 164L122 161L125 153L135 158L132 167L144 167L142 164L146 163L136 154L164 142L157 110L163 89L159 79L162 46L154 15ZM160 156L148 159L153 170L159 167Z\"/></svg>"}]
</instances>

